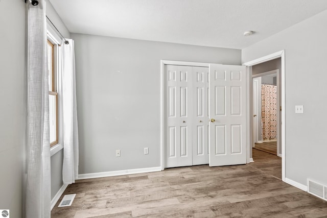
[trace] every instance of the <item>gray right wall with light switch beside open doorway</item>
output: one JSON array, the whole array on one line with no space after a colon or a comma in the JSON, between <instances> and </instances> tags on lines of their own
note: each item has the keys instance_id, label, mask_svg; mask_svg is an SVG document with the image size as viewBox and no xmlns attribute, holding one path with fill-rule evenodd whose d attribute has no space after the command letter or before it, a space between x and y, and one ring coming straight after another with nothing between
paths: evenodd
<instances>
[{"instance_id":1,"label":"gray right wall with light switch beside open doorway","mask_svg":"<svg viewBox=\"0 0 327 218\"><path fill-rule=\"evenodd\" d=\"M327 11L242 50L242 62L285 50L286 178L327 184ZM295 114L295 105L304 105Z\"/></svg>"}]
</instances>

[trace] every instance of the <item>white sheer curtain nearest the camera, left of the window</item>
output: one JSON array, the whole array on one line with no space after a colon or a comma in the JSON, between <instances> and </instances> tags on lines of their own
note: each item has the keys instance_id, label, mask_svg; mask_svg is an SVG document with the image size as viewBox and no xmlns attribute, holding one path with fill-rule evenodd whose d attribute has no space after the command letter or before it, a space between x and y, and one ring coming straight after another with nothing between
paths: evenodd
<instances>
[{"instance_id":1,"label":"white sheer curtain nearest the camera, left of the window","mask_svg":"<svg viewBox=\"0 0 327 218\"><path fill-rule=\"evenodd\" d=\"M49 88L45 2L27 4L28 108L25 217L50 217Z\"/></svg>"}]
</instances>

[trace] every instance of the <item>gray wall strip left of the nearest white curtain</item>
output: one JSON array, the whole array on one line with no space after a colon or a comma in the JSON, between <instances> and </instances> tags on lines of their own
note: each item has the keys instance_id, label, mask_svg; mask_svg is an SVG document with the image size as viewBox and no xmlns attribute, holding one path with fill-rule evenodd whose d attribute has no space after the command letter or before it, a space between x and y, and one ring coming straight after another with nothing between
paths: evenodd
<instances>
[{"instance_id":1,"label":"gray wall strip left of the nearest white curtain","mask_svg":"<svg viewBox=\"0 0 327 218\"><path fill-rule=\"evenodd\" d=\"M25 3L0 1L0 208L22 217L26 132Z\"/></svg>"}]
</instances>

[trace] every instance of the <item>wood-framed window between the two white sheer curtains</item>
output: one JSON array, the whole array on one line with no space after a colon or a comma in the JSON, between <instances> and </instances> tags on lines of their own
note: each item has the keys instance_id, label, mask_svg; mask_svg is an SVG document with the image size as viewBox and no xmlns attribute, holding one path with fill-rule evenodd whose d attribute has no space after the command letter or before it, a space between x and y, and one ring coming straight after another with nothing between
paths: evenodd
<instances>
[{"instance_id":1,"label":"wood-framed window between the two white sheer curtains","mask_svg":"<svg viewBox=\"0 0 327 218\"><path fill-rule=\"evenodd\" d=\"M48 40L50 147L58 143L58 92L55 71L55 46Z\"/></svg>"}]
</instances>

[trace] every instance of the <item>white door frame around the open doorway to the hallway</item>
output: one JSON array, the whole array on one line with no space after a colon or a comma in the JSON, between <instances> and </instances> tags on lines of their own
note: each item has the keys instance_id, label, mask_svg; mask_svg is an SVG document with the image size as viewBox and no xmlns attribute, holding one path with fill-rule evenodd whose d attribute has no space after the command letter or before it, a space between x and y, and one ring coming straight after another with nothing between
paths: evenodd
<instances>
[{"instance_id":1,"label":"white door frame around the open doorway to the hallway","mask_svg":"<svg viewBox=\"0 0 327 218\"><path fill-rule=\"evenodd\" d=\"M256 65L256 64L260 64L263 62L267 62L273 59L277 59L277 58L281 58L281 106L282 106L282 125L281 125L281 142L282 142L282 181L285 182L285 163L286 163L286 155L285 155L285 50L279 51L279 52L275 52L273 54L270 55L266 55L257 59L254 59L252 61L248 61L243 63L244 66L247 66L247 71L251 72L251 66ZM250 77L251 75L251 77ZM251 80L251 83L250 83ZM251 98L251 101L247 101L247 144L248 146L248 161L250 161L250 148L251 148L251 144L253 143L253 138L251 136L251 128L252 128L252 117L250 116L250 114L252 112L250 112L252 109L250 102L252 103L252 96L250 93L252 93L252 73L247 74L247 85L248 85L248 93L247 93L247 98ZM253 159L252 159L253 160Z\"/></svg>"}]
</instances>

